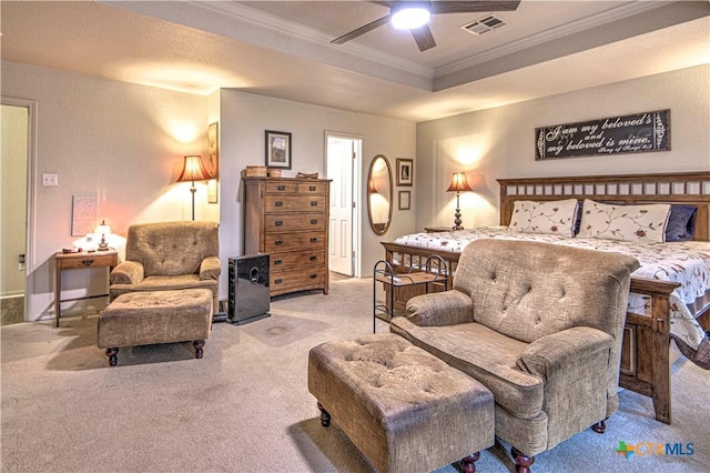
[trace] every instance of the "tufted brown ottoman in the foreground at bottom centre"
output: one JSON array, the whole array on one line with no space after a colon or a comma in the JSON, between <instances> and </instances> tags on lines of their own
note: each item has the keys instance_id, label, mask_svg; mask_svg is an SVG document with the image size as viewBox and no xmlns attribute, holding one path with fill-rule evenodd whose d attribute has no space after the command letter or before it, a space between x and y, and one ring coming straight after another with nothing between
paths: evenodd
<instances>
[{"instance_id":1,"label":"tufted brown ottoman in the foreground at bottom centre","mask_svg":"<svg viewBox=\"0 0 710 473\"><path fill-rule=\"evenodd\" d=\"M483 384L394 333L323 343L308 353L308 391L379 472L475 471L495 442Z\"/></svg>"}]
</instances>

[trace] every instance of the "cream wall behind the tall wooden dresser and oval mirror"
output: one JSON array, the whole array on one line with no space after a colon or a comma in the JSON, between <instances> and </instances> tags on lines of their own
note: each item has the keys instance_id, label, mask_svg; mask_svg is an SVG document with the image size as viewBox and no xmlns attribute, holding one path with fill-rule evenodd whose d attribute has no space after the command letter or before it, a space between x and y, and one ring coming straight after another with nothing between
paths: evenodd
<instances>
[{"instance_id":1,"label":"cream wall behind the tall wooden dresser and oval mirror","mask_svg":"<svg viewBox=\"0 0 710 473\"><path fill-rule=\"evenodd\" d=\"M223 264L227 259L243 254L243 217L241 172L246 165L264 165L264 131L276 130L292 133L292 170L317 172L324 177L326 169L325 132L337 131L363 138L363 162L361 174L367 175L369 163L378 154L385 154L393 168L396 158L414 158L414 122L354 113L326 107L311 105L288 100L222 90L221 100L221 236L220 252ZM395 192L396 197L396 192ZM367 224L365 190L361 193L359 218L362 234L356 238L362 243L363 276L372 274L378 259L384 256L379 241L393 240L414 230L414 212L396 212L389 231L375 235ZM396 204L396 203L395 203ZM223 274L221 288L226 288Z\"/></svg>"}]
</instances>

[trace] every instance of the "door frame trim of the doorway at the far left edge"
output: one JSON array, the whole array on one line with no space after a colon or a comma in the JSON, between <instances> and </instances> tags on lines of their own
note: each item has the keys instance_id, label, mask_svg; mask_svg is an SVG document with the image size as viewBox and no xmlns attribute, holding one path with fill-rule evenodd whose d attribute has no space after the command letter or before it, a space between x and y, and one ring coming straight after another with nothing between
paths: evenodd
<instances>
[{"instance_id":1,"label":"door frame trim of the doorway at the far left edge","mask_svg":"<svg viewBox=\"0 0 710 473\"><path fill-rule=\"evenodd\" d=\"M27 209L24 229L24 320L28 321L32 314L32 294L34 293L34 173L37 169L37 125L38 125L38 101L21 99L17 97L0 95L0 103L3 105L22 107L28 109L27 130Z\"/></svg>"}]
</instances>

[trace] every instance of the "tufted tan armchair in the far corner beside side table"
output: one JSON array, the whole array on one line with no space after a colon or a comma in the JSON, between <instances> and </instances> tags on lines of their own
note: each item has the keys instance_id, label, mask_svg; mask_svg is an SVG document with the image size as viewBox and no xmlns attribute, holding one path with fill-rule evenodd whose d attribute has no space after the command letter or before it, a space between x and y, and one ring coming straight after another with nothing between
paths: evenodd
<instances>
[{"instance_id":1,"label":"tufted tan armchair in the far corner beside side table","mask_svg":"<svg viewBox=\"0 0 710 473\"><path fill-rule=\"evenodd\" d=\"M125 261L111 271L111 300L135 291L205 288L219 308L220 227L215 222L141 223L129 228Z\"/></svg>"}]
</instances>

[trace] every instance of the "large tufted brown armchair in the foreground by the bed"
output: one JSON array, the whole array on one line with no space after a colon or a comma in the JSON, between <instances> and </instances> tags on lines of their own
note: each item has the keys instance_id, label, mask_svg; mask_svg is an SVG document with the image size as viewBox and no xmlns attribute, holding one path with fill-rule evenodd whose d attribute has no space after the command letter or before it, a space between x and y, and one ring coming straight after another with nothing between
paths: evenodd
<instances>
[{"instance_id":1,"label":"large tufted brown armchair in the foreground by the bed","mask_svg":"<svg viewBox=\"0 0 710 473\"><path fill-rule=\"evenodd\" d=\"M636 259L511 240L462 253L453 290L408 301L390 331L481 382L518 471L618 407Z\"/></svg>"}]
</instances>

